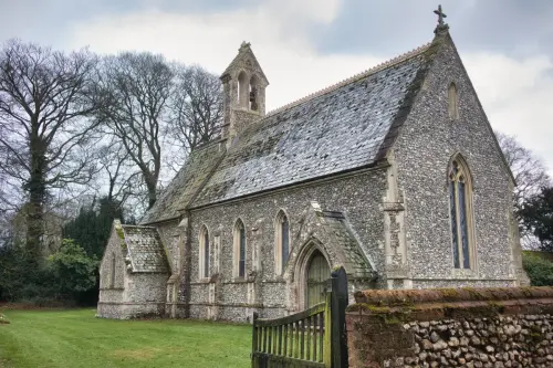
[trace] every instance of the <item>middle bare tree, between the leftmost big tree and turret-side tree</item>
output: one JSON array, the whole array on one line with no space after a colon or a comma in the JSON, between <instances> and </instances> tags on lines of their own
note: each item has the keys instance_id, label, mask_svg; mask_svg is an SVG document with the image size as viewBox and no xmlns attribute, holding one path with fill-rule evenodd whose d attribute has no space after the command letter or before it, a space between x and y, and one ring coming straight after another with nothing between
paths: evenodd
<instances>
[{"instance_id":1,"label":"middle bare tree, between the leftmost big tree and turret-side tree","mask_svg":"<svg viewBox=\"0 0 553 368\"><path fill-rule=\"evenodd\" d=\"M139 169L148 208L157 198L173 75L165 59L150 53L122 53L103 63L98 91L108 104L96 116Z\"/></svg>"}]
</instances>

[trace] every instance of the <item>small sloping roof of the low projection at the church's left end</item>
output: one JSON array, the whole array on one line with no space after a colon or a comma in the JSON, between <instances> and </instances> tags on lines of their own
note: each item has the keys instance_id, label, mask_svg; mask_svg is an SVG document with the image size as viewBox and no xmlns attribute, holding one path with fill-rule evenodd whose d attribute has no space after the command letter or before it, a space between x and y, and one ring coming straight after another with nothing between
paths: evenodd
<instances>
[{"instance_id":1,"label":"small sloping roof of the low projection at the church's left end","mask_svg":"<svg viewBox=\"0 0 553 368\"><path fill-rule=\"evenodd\" d=\"M167 255L156 228L122 225L127 257L135 273L169 273Z\"/></svg>"}]
</instances>

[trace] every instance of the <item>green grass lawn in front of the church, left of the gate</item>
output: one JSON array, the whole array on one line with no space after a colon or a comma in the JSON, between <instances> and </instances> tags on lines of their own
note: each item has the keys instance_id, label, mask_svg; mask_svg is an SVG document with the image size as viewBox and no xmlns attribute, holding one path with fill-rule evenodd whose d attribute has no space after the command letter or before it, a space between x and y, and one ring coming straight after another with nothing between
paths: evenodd
<instances>
[{"instance_id":1,"label":"green grass lawn in front of the church, left of the gate","mask_svg":"<svg viewBox=\"0 0 553 368\"><path fill-rule=\"evenodd\" d=\"M0 311L0 367L249 367L251 327L197 320L112 320L95 309Z\"/></svg>"}]
</instances>

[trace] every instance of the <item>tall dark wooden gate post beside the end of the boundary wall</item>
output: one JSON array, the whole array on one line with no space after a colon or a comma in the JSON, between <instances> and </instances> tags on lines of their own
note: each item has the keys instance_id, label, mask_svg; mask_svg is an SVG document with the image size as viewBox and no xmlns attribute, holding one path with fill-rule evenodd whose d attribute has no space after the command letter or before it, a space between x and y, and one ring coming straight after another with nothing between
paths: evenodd
<instances>
[{"instance_id":1,"label":"tall dark wooden gate post beside the end of the boundary wall","mask_svg":"<svg viewBox=\"0 0 553 368\"><path fill-rule=\"evenodd\" d=\"M343 266L331 273L332 283L332 367L347 368L345 309L347 307L347 275Z\"/></svg>"}]
</instances>

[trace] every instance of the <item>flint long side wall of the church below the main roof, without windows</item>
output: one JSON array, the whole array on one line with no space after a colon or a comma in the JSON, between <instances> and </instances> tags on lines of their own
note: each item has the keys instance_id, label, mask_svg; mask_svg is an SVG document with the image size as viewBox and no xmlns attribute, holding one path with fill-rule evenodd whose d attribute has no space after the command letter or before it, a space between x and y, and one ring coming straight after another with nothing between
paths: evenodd
<instances>
[{"instance_id":1,"label":"flint long side wall of the church below the main roof, without windows","mask_svg":"<svg viewBox=\"0 0 553 368\"><path fill-rule=\"evenodd\" d=\"M371 182L367 193L365 187ZM364 251L376 263L377 270L384 269L384 252L380 238L384 232L383 214L379 209L385 191L385 170L366 171L332 181L315 182L285 191L275 191L240 201L191 210L190 225L190 290L189 305L191 318L207 318L208 307L217 307L215 319L247 322L257 311L262 318L282 317L298 312L295 298L288 297L291 281L284 280L274 265L274 219L283 210L290 222L290 252L298 253L303 241L298 238L311 206L317 201L324 210L342 211L362 240ZM261 267L255 277L237 278L233 270L233 229L238 219L246 225L246 274L254 269L253 252L259 246ZM221 259L215 302L209 301L209 281L199 276L199 233L202 227L209 231L210 243L220 236ZM164 230L169 232L169 230ZM215 245L211 246L211 271L215 267ZM385 275L383 274L383 277ZM186 283L186 280L181 280ZM384 281L383 281L384 283ZM248 296L249 285L253 295ZM383 286L383 285L380 285ZM364 285L363 287L366 287ZM180 302L185 303L180 293Z\"/></svg>"}]
</instances>

